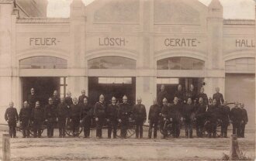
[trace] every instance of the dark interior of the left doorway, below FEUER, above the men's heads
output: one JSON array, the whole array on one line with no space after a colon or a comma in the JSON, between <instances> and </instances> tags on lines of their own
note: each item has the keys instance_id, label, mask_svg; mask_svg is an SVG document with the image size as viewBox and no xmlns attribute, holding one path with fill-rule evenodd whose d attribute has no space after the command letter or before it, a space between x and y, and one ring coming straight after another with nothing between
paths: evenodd
<instances>
[{"instance_id":1,"label":"dark interior of the left doorway, below FEUER, above the men's heads","mask_svg":"<svg viewBox=\"0 0 256 161\"><path fill-rule=\"evenodd\" d=\"M22 77L22 102L26 101L33 87L41 105L48 102L54 90L60 91L60 77Z\"/></svg>"}]
</instances>

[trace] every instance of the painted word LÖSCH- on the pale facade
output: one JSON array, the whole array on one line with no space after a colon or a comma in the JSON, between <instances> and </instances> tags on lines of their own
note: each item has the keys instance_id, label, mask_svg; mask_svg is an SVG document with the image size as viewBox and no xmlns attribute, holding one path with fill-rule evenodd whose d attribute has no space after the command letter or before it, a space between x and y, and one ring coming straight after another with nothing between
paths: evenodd
<instances>
[{"instance_id":1,"label":"painted word L\u00d6SCH- on the pale facade","mask_svg":"<svg viewBox=\"0 0 256 161\"><path fill-rule=\"evenodd\" d=\"M121 37L99 38L99 46L126 46L128 41Z\"/></svg>"}]
</instances>

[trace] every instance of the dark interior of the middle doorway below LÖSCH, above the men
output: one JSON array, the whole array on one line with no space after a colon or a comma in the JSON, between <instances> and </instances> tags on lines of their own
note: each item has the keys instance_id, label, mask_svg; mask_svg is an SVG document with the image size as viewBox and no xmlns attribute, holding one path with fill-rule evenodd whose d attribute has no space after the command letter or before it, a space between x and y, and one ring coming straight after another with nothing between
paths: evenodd
<instances>
[{"instance_id":1,"label":"dark interior of the middle doorway below L\u00d6SCH, above the men","mask_svg":"<svg viewBox=\"0 0 256 161\"><path fill-rule=\"evenodd\" d=\"M115 78L104 77L106 82L100 81L102 77L89 77L88 78L88 97L91 104L99 101L99 95L105 95L105 101L107 104L111 103L112 96L121 103L123 95L126 95L130 104L135 103L136 98L136 78L130 77L130 81L122 82L123 77L118 77L119 81L115 81ZM126 77L129 79L129 77ZM124 78L124 79L126 79ZM120 81L121 80L121 81Z\"/></svg>"}]
</instances>

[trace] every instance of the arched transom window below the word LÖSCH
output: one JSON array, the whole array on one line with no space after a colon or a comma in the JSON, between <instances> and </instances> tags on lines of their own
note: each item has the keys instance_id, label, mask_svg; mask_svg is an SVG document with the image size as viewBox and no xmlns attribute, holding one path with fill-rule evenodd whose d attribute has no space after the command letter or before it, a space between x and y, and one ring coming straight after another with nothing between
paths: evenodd
<instances>
[{"instance_id":1,"label":"arched transom window below the word L\u00d6SCH","mask_svg":"<svg viewBox=\"0 0 256 161\"><path fill-rule=\"evenodd\" d=\"M136 61L125 57L98 57L88 60L89 69L136 69Z\"/></svg>"}]
</instances>

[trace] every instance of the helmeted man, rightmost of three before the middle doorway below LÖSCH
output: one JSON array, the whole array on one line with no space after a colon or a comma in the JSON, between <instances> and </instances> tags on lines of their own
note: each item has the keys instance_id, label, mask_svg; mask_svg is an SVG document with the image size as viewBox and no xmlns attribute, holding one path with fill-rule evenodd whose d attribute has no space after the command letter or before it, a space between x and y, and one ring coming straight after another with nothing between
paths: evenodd
<instances>
[{"instance_id":1,"label":"helmeted man, rightmost of three before the middle doorway below L\u00d6SCH","mask_svg":"<svg viewBox=\"0 0 256 161\"><path fill-rule=\"evenodd\" d=\"M126 139L127 129L129 126L129 121L132 120L132 108L130 104L127 103L126 95L123 96L123 103L119 105L119 123L121 124L121 138Z\"/></svg>"}]
</instances>

